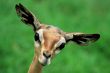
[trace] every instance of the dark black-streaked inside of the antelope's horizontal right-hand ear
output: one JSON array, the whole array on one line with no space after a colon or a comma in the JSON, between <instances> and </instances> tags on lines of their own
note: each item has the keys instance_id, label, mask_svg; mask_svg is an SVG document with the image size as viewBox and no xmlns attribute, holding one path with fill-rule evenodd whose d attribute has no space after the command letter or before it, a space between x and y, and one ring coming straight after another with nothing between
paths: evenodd
<instances>
[{"instance_id":1,"label":"dark black-streaked inside of the antelope's horizontal right-hand ear","mask_svg":"<svg viewBox=\"0 0 110 73\"><path fill-rule=\"evenodd\" d=\"M72 41L79 45L88 45L89 43L97 41L99 38L99 34L76 34L73 35Z\"/></svg>"}]
</instances>

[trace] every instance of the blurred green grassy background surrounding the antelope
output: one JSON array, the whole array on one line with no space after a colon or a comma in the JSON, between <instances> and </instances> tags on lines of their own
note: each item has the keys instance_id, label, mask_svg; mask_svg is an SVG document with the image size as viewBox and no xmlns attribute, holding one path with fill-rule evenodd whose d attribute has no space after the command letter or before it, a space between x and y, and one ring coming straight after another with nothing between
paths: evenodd
<instances>
[{"instance_id":1,"label":"blurred green grassy background surrounding the antelope","mask_svg":"<svg viewBox=\"0 0 110 73\"><path fill-rule=\"evenodd\" d=\"M110 0L0 0L0 73L27 73L34 55L34 33L17 3L64 31L101 34L89 46L68 44L43 73L110 73Z\"/></svg>"}]
</instances>

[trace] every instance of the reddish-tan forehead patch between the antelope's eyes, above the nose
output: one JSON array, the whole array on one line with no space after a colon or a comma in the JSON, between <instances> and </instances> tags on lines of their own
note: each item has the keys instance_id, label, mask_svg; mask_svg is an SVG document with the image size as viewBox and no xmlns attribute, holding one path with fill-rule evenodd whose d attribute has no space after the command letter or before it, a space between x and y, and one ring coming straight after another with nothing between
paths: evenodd
<instances>
[{"instance_id":1,"label":"reddish-tan forehead patch between the antelope's eyes, above the nose","mask_svg":"<svg viewBox=\"0 0 110 73\"><path fill-rule=\"evenodd\" d=\"M60 40L61 35L56 30L45 30L43 32L44 45L46 49L52 49Z\"/></svg>"}]
</instances>

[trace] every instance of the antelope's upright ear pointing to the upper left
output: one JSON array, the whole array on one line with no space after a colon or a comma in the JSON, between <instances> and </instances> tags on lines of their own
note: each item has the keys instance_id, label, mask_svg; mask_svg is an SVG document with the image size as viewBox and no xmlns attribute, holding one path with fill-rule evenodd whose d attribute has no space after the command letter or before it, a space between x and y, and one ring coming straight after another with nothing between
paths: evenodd
<instances>
[{"instance_id":1,"label":"antelope's upright ear pointing to the upper left","mask_svg":"<svg viewBox=\"0 0 110 73\"><path fill-rule=\"evenodd\" d=\"M40 22L36 19L32 12L26 9L22 4L16 4L15 8L18 16L21 18L21 21L31 25L34 30L40 27Z\"/></svg>"}]
</instances>

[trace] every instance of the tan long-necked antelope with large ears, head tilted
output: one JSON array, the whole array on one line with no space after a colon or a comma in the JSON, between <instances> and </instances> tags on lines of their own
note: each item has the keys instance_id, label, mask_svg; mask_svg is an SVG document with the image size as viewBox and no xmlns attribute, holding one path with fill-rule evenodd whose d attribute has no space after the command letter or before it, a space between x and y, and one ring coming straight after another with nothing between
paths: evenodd
<instances>
[{"instance_id":1,"label":"tan long-necked antelope with large ears, head tilted","mask_svg":"<svg viewBox=\"0 0 110 73\"><path fill-rule=\"evenodd\" d=\"M42 31L39 32L41 33L43 39L41 39L41 43L38 43L38 40L35 40L35 54L28 73L41 73L43 68L42 63L45 63L47 61L49 63L55 55L54 53L56 48L58 48L58 46L61 46L61 44L64 45L69 41L73 41L78 45L88 45L89 42L95 42L100 38L99 34L63 32L57 27L41 24L38 19L36 19L35 15L33 15L33 13L26 9L22 4L16 4L15 8L21 20L25 24L31 25L33 27L35 34L40 29L42 29ZM58 46L56 46L56 44ZM57 50L57 52L59 50ZM47 55L50 55L49 58L47 58ZM47 65L48 63L45 64Z\"/></svg>"}]
</instances>

